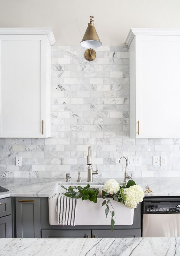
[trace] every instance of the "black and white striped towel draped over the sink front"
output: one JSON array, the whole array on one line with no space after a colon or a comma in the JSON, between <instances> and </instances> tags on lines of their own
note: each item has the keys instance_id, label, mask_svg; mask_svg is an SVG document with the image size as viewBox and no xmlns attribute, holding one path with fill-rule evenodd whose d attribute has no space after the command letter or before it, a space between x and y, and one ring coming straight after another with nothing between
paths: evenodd
<instances>
[{"instance_id":1,"label":"black and white striped towel draped over the sink front","mask_svg":"<svg viewBox=\"0 0 180 256\"><path fill-rule=\"evenodd\" d=\"M56 204L57 222L59 225L75 226L77 198L58 196Z\"/></svg>"}]
</instances>

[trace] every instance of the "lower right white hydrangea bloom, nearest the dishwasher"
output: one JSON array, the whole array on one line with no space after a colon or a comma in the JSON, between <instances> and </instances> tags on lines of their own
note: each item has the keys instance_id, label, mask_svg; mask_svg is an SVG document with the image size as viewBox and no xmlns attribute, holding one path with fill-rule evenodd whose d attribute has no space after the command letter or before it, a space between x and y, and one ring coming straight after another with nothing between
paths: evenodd
<instances>
[{"instance_id":1,"label":"lower right white hydrangea bloom, nearest the dishwasher","mask_svg":"<svg viewBox=\"0 0 180 256\"><path fill-rule=\"evenodd\" d=\"M137 204L142 202L144 198L144 191L139 185L133 185L130 188L124 188L126 195L126 207L136 209Z\"/></svg>"}]
</instances>

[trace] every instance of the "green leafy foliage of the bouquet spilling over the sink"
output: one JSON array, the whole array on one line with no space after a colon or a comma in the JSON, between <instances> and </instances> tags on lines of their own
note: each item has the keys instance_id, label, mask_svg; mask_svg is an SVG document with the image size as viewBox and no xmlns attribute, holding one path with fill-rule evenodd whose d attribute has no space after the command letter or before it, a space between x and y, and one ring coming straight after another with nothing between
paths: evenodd
<instances>
[{"instance_id":1,"label":"green leafy foliage of the bouquet spilling over the sink","mask_svg":"<svg viewBox=\"0 0 180 256\"><path fill-rule=\"evenodd\" d=\"M124 195L124 188L130 188L131 186L136 185L136 183L133 180L129 180L125 186L120 186L119 191L116 194L109 194L106 193L104 190L102 190L102 206L106 206L105 208L105 214L106 218L108 217L108 214L110 212L111 215L111 224L110 228L111 231L114 229L114 217L115 217L115 212L114 208L111 204L111 199L115 200L116 202L123 203L125 205L126 202L126 195ZM97 203L97 196L99 194L99 188L93 188L89 184L87 184L85 187L81 186L69 186L65 187L63 185L60 185L62 188L66 190L64 196L71 197L71 198L81 198L81 200L89 200L93 203ZM111 205L112 211L109 209L109 204Z\"/></svg>"}]
</instances>

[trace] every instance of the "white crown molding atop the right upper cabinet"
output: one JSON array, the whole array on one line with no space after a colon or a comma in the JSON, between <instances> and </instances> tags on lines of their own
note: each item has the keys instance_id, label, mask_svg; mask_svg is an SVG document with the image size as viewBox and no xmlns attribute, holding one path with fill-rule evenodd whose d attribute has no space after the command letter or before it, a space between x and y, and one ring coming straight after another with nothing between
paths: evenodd
<instances>
[{"instance_id":1,"label":"white crown molding atop the right upper cabinet","mask_svg":"<svg viewBox=\"0 0 180 256\"><path fill-rule=\"evenodd\" d=\"M131 28L125 44L130 46L134 36L180 36L180 29Z\"/></svg>"}]
</instances>

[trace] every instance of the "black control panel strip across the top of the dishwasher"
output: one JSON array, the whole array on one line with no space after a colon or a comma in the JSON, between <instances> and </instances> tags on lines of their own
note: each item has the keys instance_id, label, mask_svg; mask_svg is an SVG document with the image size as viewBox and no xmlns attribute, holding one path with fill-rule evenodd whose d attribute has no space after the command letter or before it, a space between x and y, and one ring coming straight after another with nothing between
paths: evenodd
<instances>
[{"instance_id":1,"label":"black control panel strip across the top of the dishwasher","mask_svg":"<svg viewBox=\"0 0 180 256\"><path fill-rule=\"evenodd\" d=\"M146 205L145 213L180 213L180 205Z\"/></svg>"}]
</instances>

